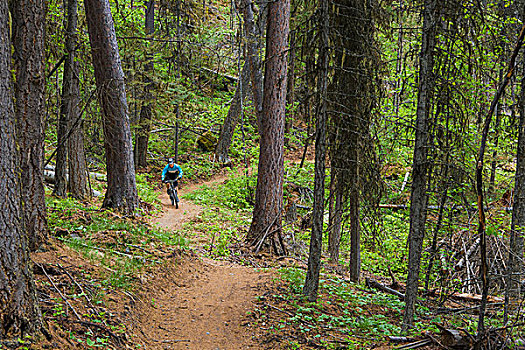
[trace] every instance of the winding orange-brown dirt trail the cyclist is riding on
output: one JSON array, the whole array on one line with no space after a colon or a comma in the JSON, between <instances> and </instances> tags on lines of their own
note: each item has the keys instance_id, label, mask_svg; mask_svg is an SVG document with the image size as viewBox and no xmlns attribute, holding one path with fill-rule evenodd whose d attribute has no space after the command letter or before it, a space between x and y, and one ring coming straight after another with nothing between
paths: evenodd
<instances>
[{"instance_id":1,"label":"winding orange-brown dirt trail the cyclist is riding on","mask_svg":"<svg viewBox=\"0 0 525 350\"><path fill-rule=\"evenodd\" d=\"M162 202L164 215L156 223L166 229L180 228L203 210L188 200L174 209L165 193ZM140 342L145 349L259 349L246 327L246 313L269 281L268 273L230 262L197 255L174 259L150 283L147 299L136 305Z\"/></svg>"}]
</instances>

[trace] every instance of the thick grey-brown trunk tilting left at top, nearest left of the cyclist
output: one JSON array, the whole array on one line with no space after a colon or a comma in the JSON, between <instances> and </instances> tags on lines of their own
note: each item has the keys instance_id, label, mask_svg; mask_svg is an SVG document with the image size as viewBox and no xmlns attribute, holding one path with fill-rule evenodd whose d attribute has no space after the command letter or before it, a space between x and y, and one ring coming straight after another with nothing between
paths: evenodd
<instances>
[{"instance_id":1,"label":"thick grey-brown trunk tilting left at top, nearest left of the cyclist","mask_svg":"<svg viewBox=\"0 0 525 350\"><path fill-rule=\"evenodd\" d=\"M103 208L138 209L131 130L117 38L108 0L85 0L89 41L103 112L108 186Z\"/></svg>"}]
</instances>

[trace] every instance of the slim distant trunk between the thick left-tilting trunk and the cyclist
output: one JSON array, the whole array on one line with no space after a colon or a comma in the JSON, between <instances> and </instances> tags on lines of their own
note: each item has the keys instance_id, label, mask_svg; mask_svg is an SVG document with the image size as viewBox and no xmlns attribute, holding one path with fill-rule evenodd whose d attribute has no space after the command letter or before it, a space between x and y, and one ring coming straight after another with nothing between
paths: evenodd
<instances>
[{"instance_id":1,"label":"slim distant trunk between the thick left-tilting trunk and the cyclist","mask_svg":"<svg viewBox=\"0 0 525 350\"><path fill-rule=\"evenodd\" d=\"M155 32L155 0L146 0L146 35L152 36ZM146 156L148 154L149 131L151 128L151 102L153 96L151 90L153 89L153 81L148 76L154 69L153 55L148 53L146 55L146 64L144 67L144 98L142 107L140 109L139 128L137 130L137 141L135 143L135 166L145 167L147 165Z\"/></svg>"}]
</instances>

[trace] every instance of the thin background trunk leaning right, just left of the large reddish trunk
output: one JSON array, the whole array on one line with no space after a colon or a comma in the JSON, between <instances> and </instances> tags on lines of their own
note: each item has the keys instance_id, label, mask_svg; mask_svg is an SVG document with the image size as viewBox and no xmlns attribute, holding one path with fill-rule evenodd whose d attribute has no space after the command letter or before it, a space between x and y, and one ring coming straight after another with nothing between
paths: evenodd
<instances>
[{"instance_id":1,"label":"thin background trunk leaning right, just left of the large reddish trunk","mask_svg":"<svg viewBox=\"0 0 525 350\"><path fill-rule=\"evenodd\" d=\"M228 152L230 151L235 127L237 126L239 117L242 113L242 102L247 95L249 85L250 63L248 60L245 60L241 71L241 79L237 80L235 94L233 95L230 108L228 109L228 114L226 115L226 118L224 118L221 133L217 141L217 147L215 148L215 155L219 163L228 164L230 162Z\"/></svg>"}]
</instances>

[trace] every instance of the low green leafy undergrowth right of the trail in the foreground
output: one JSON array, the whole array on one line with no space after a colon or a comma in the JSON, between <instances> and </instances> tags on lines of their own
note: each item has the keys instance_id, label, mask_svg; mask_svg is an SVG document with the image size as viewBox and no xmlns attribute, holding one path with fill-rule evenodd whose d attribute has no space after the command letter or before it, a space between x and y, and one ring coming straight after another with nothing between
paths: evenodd
<instances>
[{"instance_id":1,"label":"low green leafy undergrowth right of the trail in the foreground","mask_svg":"<svg viewBox=\"0 0 525 350\"><path fill-rule=\"evenodd\" d=\"M344 341L364 336L361 346L386 335L399 334L403 303L391 295L376 294L358 288L337 277L320 280L320 298L307 302L302 294L304 271L293 268L280 270L279 280L289 286L286 292L274 294L272 302L285 301L287 327L274 327L274 332L297 329L307 339L326 339L330 333ZM372 312L371 312L372 311Z\"/></svg>"}]
</instances>

